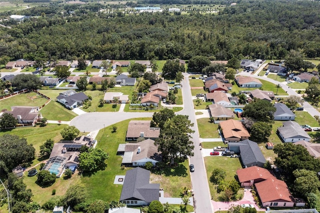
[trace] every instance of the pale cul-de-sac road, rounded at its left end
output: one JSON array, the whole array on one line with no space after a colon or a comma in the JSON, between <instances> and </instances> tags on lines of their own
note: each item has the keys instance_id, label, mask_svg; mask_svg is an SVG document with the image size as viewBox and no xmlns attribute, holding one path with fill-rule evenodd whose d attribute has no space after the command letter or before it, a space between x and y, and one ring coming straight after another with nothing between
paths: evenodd
<instances>
[{"instance_id":1,"label":"pale cul-de-sac road, rounded at its left end","mask_svg":"<svg viewBox=\"0 0 320 213\"><path fill-rule=\"evenodd\" d=\"M152 117L152 114L153 112L89 112L74 117L70 125L74 125L80 131L95 131L130 118Z\"/></svg>"}]
</instances>

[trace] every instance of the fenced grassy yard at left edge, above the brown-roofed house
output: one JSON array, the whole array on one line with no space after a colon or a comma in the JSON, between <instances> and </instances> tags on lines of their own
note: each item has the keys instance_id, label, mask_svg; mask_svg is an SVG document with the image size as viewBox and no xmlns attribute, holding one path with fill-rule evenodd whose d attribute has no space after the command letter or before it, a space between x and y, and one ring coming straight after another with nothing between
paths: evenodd
<instances>
[{"instance_id":1,"label":"fenced grassy yard at left edge, above the brown-roofed house","mask_svg":"<svg viewBox=\"0 0 320 213\"><path fill-rule=\"evenodd\" d=\"M0 110L11 110L11 106L41 106L46 98L35 92L26 92L0 100Z\"/></svg>"}]
</instances>

